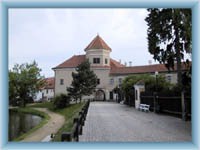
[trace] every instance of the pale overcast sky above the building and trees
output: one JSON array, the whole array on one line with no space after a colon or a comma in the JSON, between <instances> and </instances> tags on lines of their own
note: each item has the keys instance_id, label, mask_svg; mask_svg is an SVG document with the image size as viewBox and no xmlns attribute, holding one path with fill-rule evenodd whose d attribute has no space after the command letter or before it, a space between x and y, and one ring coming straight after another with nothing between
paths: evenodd
<instances>
[{"instance_id":1,"label":"pale overcast sky above the building and trees","mask_svg":"<svg viewBox=\"0 0 200 150\"><path fill-rule=\"evenodd\" d=\"M36 60L45 77L84 48L97 33L111 57L133 66L152 63L147 49L146 9L9 9L9 69Z\"/></svg>"}]
</instances>

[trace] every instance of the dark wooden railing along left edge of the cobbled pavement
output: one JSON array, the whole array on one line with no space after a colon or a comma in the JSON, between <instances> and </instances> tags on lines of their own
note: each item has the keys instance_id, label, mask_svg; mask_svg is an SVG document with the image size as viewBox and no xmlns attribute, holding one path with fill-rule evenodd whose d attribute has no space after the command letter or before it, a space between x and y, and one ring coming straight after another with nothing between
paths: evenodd
<instances>
[{"instance_id":1,"label":"dark wooden railing along left edge of the cobbled pavement","mask_svg":"<svg viewBox=\"0 0 200 150\"><path fill-rule=\"evenodd\" d=\"M74 118L72 131L62 133L61 135L62 142L79 141L79 135L82 135L83 126L85 124L89 105L90 101L87 101L86 104L83 106L82 110L79 112L78 117Z\"/></svg>"}]
</instances>

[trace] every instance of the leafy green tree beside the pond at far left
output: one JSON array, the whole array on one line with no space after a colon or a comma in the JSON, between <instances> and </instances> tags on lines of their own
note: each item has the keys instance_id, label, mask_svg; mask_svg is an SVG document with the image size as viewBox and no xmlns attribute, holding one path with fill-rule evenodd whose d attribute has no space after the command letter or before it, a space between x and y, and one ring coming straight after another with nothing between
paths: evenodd
<instances>
[{"instance_id":1,"label":"leafy green tree beside the pond at far left","mask_svg":"<svg viewBox=\"0 0 200 150\"><path fill-rule=\"evenodd\" d=\"M35 61L14 65L9 70L9 101L25 107L26 103L35 96L35 93L44 85L41 69Z\"/></svg>"}]
</instances>

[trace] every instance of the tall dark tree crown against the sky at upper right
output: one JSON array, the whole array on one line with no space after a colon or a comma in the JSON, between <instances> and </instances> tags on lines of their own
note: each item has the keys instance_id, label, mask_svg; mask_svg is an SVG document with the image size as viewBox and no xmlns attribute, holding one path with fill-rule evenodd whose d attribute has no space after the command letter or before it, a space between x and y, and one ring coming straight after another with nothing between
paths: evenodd
<instances>
[{"instance_id":1,"label":"tall dark tree crown against the sky at upper right","mask_svg":"<svg viewBox=\"0 0 200 150\"><path fill-rule=\"evenodd\" d=\"M177 63L178 83L181 85L181 60L192 53L191 9L147 9L148 49L153 58L174 70Z\"/></svg>"}]
</instances>

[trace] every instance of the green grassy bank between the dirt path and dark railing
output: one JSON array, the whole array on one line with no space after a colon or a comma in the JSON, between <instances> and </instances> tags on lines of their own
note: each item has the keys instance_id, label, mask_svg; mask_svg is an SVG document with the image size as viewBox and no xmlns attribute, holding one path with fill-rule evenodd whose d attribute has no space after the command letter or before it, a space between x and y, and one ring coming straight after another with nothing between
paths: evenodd
<instances>
[{"instance_id":1,"label":"green grassy bank between the dirt path and dark railing","mask_svg":"<svg viewBox=\"0 0 200 150\"><path fill-rule=\"evenodd\" d=\"M70 106L64 109L54 109L52 102L43 102L43 103L36 103L34 105L28 107L38 107L38 108L48 108L49 110L61 114L65 117L65 123L62 128L56 133L53 141L61 141L61 134L63 132L70 132L73 127L73 120L75 117L78 116L78 113L81 111L82 107L85 105L86 102L71 104Z\"/></svg>"}]
</instances>

